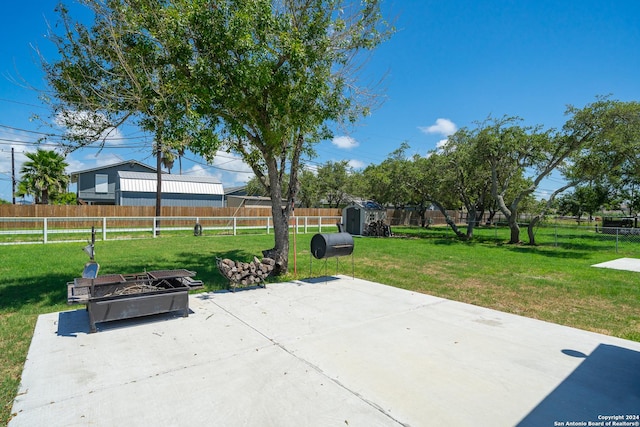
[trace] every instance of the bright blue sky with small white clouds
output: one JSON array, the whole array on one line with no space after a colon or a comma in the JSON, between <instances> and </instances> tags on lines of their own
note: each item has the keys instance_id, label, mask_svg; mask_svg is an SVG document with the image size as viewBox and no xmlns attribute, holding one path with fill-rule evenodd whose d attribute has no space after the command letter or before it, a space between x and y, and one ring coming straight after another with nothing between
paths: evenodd
<instances>
[{"instance_id":1,"label":"bright blue sky with small white clouds","mask_svg":"<svg viewBox=\"0 0 640 427\"><path fill-rule=\"evenodd\" d=\"M0 27L0 198L11 200L11 147L16 170L24 152L51 132L36 91L43 88L32 46L55 59L46 39L56 22L56 0L8 2ZM397 33L379 47L363 77L385 77L382 106L348 132L317 145L310 162L348 160L378 164L406 141L409 154L426 154L447 134L473 127L489 115L517 115L526 124L560 128L568 104L584 106L597 95L640 100L640 2L637 0L387 0ZM67 158L69 171L136 159L154 165L149 139L123 129L113 149L83 149ZM213 166L188 154L184 174L211 175L239 185L249 169L228 154ZM173 173L177 173L177 166ZM539 196L560 186L556 177Z\"/></svg>"}]
</instances>

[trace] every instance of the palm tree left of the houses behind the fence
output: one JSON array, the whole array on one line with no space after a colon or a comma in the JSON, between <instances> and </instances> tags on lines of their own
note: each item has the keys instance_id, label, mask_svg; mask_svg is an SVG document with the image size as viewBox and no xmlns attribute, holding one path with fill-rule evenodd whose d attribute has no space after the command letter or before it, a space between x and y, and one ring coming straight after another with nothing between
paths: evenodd
<instances>
[{"instance_id":1,"label":"palm tree left of the houses behind the fence","mask_svg":"<svg viewBox=\"0 0 640 427\"><path fill-rule=\"evenodd\" d=\"M22 164L20 173L20 192L32 195L36 204L49 204L51 194L63 193L69 183L65 173L68 166L65 159L55 151L38 149L35 153L27 153L29 158Z\"/></svg>"}]
</instances>

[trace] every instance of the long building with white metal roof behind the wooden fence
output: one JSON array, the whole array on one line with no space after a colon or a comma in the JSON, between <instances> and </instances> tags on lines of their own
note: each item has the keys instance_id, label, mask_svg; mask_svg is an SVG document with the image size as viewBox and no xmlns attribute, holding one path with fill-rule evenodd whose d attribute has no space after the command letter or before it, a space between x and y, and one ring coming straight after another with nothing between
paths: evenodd
<instances>
[{"instance_id":1,"label":"long building with white metal roof behind the wooden fence","mask_svg":"<svg viewBox=\"0 0 640 427\"><path fill-rule=\"evenodd\" d=\"M155 173L118 172L115 204L155 206ZM223 207L224 189L216 178L162 174L162 206Z\"/></svg>"}]
</instances>

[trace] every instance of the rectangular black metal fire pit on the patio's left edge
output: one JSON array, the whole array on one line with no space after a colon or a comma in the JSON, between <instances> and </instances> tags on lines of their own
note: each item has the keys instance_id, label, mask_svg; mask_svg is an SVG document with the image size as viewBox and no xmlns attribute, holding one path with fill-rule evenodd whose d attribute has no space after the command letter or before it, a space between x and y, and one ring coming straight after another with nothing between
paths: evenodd
<instances>
[{"instance_id":1,"label":"rectangular black metal fire pit on the patio's left edge","mask_svg":"<svg viewBox=\"0 0 640 427\"><path fill-rule=\"evenodd\" d=\"M182 311L189 315L189 291L202 289L189 270L159 270L77 278L67 283L67 304L86 304L91 332L96 323Z\"/></svg>"}]
</instances>

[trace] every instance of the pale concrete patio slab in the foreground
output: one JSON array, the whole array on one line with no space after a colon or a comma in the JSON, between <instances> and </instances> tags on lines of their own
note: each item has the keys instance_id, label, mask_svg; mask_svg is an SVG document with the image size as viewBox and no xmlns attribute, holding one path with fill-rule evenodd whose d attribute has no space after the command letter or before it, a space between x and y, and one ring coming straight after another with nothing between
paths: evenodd
<instances>
[{"instance_id":1,"label":"pale concrete patio slab in the foreground","mask_svg":"<svg viewBox=\"0 0 640 427\"><path fill-rule=\"evenodd\" d=\"M526 296L523 296L526 298ZM640 343L325 277L38 318L18 426L553 426L640 413ZM638 421L638 420L633 420Z\"/></svg>"}]
</instances>

